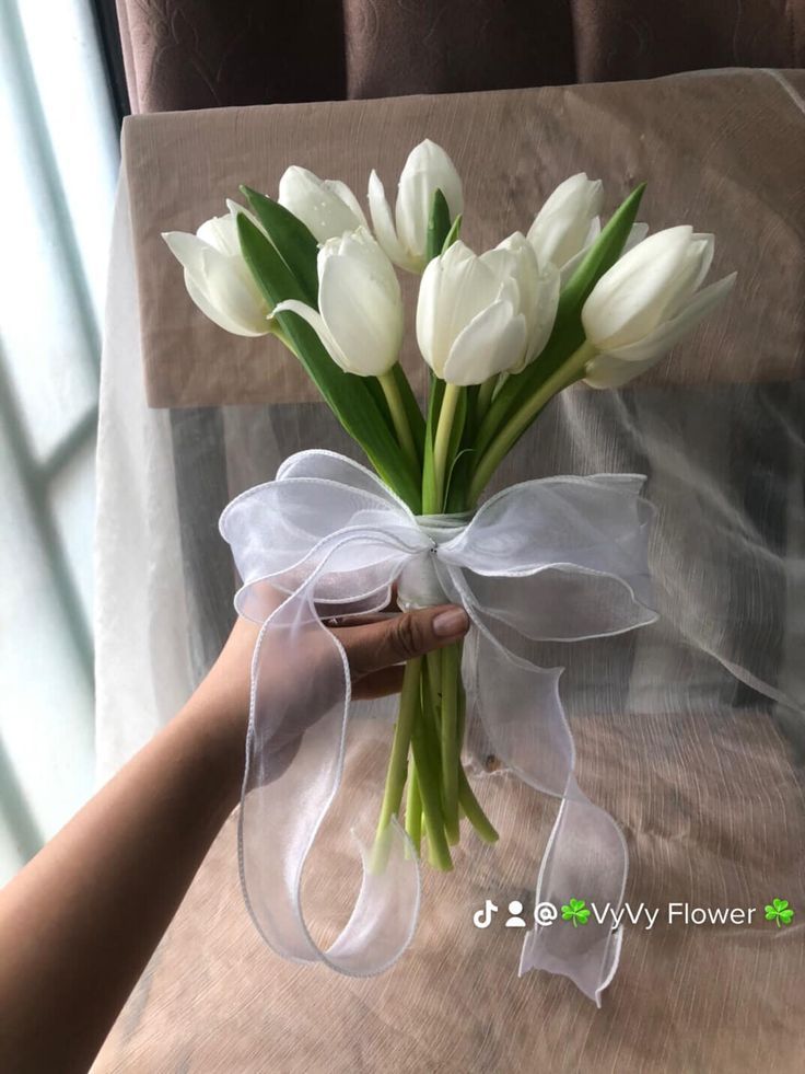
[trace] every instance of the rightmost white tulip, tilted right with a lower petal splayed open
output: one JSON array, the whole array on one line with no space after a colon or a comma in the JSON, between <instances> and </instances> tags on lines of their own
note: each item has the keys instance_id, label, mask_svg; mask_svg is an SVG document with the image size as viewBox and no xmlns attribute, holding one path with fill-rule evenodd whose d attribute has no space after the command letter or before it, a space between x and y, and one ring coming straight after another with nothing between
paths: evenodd
<instances>
[{"instance_id":1,"label":"rightmost white tulip, tilted right with a lower petal splayed open","mask_svg":"<svg viewBox=\"0 0 805 1074\"><path fill-rule=\"evenodd\" d=\"M618 388L658 361L708 310L721 302L736 274L704 290L714 240L688 226L658 231L639 243L597 281L582 309L593 388Z\"/></svg>"}]
</instances>

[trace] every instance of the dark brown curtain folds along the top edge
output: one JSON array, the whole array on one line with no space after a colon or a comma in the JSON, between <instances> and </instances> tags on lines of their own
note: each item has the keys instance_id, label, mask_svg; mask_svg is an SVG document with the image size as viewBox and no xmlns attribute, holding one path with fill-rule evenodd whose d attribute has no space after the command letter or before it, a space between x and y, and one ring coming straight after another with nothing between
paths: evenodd
<instances>
[{"instance_id":1,"label":"dark brown curtain folds along the top edge","mask_svg":"<svg viewBox=\"0 0 805 1074\"><path fill-rule=\"evenodd\" d=\"M805 67L805 0L117 0L132 112Z\"/></svg>"}]
</instances>

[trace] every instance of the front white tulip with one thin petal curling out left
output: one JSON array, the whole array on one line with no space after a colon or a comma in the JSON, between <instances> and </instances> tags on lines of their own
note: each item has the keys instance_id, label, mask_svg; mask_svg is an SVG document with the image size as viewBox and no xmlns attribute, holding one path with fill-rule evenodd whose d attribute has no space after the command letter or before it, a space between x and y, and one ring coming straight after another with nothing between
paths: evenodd
<instances>
[{"instance_id":1,"label":"front white tulip with one thin petal curling out left","mask_svg":"<svg viewBox=\"0 0 805 1074\"><path fill-rule=\"evenodd\" d=\"M299 314L346 372L387 373L402 345L402 297L394 266L365 228L329 239L316 265L318 310L289 299L275 313Z\"/></svg>"}]
</instances>

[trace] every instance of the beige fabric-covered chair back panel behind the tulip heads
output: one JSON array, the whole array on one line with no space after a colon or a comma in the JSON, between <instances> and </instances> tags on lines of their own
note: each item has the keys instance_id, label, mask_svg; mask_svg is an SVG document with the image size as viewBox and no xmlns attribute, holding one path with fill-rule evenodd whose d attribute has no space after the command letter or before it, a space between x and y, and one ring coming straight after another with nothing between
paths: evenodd
<instances>
[{"instance_id":1,"label":"beige fabric-covered chair back panel behind the tulip heads","mask_svg":"<svg viewBox=\"0 0 805 1074\"><path fill-rule=\"evenodd\" d=\"M224 198L237 197L241 183L276 195L289 163L342 178L361 198L374 166L393 196L408 150L424 137L445 146L465 178L464 238L477 249L527 230L550 190L582 170L606 181L608 210L648 180L641 219L653 230L689 222L718 235L714 273L738 270L728 313L711 317L645 383L801 374L805 147L802 104L790 85L805 91L805 77L783 73L784 80L772 72L735 70L127 119L124 168L131 192L149 402L201 406L316 397L275 339L210 330L185 293L162 231L195 231L202 220L225 211ZM774 280L772 308L769 279ZM406 282L412 311L415 280ZM728 366L722 360L725 353ZM402 360L422 374L412 332Z\"/></svg>"}]
</instances>

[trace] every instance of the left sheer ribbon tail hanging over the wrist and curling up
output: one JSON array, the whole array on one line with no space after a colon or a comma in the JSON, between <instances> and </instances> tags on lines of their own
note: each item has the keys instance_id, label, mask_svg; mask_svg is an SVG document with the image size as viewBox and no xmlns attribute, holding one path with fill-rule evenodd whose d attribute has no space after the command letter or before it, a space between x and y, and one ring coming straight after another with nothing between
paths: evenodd
<instances>
[{"instance_id":1,"label":"left sheer ribbon tail hanging over the wrist and curling up","mask_svg":"<svg viewBox=\"0 0 805 1074\"><path fill-rule=\"evenodd\" d=\"M284 958L323 961L351 977L388 969L411 942L420 901L419 866L402 829L386 832L387 864L369 868L373 832L361 840L363 881L336 942L314 940L301 901L302 871L341 783L350 709L346 654L313 602L315 576L264 623L252 667L238 861L249 914Z\"/></svg>"}]
</instances>

